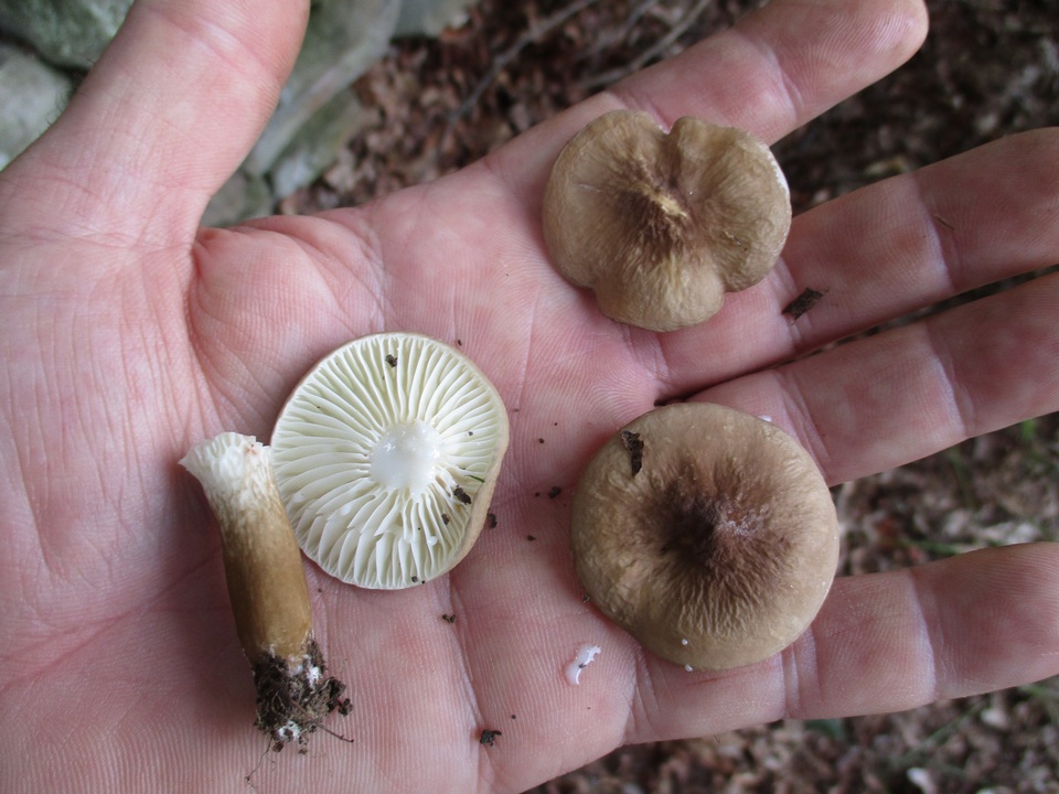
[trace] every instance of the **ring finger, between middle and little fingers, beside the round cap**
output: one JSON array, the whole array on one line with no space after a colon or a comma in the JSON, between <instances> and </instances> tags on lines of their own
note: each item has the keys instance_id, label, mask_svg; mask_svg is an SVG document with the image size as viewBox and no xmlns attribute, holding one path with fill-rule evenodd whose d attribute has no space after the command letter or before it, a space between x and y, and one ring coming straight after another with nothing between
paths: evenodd
<instances>
[{"instance_id":1,"label":"ring finger, between middle and little fingers, beside the round cap","mask_svg":"<svg viewBox=\"0 0 1059 794\"><path fill-rule=\"evenodd\" d=\"M1059 273L708 389L772 417L831 483L1059 409Z\"/></svg>"}]
</instances>

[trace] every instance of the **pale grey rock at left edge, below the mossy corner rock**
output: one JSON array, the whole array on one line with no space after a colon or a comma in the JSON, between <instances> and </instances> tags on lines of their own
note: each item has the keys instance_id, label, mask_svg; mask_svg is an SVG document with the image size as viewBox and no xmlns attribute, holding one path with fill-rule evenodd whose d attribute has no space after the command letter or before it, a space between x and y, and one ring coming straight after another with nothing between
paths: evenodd
<instances>
[{"instance_id":1,"label":"pale grey rock at left edge, below the mossy corner rock","mask_svg":"<svg viewBox=\"0 0 1059 794\"><path fill-rule=\"evenodd\" d=\"M72 89L66 76L40 58L0 43L0 169L58 117Z\"/></svg>"}]
</instances>

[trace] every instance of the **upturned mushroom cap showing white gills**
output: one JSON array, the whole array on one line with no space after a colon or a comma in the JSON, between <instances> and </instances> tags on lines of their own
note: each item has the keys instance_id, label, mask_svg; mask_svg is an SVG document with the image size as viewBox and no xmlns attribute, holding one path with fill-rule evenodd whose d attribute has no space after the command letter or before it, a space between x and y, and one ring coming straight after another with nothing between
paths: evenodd
<instances>
[{"instance_id":1,"label":"upturned mushroom cap showing white gills","mask_svg":"<svg viewBox=\"0 0 1059 794\"><path fill-rule=\"evenodd\" d=\"M451 569L478 538L507 415L461 353L384 333L340 347L306 375L271 447L302 550L342 581L406 588Z\"/></svg>"}]
</instances>

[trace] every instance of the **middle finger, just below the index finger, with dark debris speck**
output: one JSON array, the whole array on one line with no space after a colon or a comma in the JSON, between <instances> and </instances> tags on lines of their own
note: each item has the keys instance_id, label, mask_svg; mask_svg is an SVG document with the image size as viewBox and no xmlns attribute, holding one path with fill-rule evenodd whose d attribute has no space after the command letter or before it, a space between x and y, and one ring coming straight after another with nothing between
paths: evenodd
<instances>
[{"instance_id":1,"label":"middle finger, just below the index finger, with dark debris speck","mask_svg":"<svg viewBox=\"0 0 1059 794\"><path fill-rule=\"evenodd\" d=\"M670 394L816 350L1059 262L1059 129L1013 136L795 219L782 261L705 325L660 340ZM802 290L824 292L793 319Z\"/></svg>"}]
</instances>

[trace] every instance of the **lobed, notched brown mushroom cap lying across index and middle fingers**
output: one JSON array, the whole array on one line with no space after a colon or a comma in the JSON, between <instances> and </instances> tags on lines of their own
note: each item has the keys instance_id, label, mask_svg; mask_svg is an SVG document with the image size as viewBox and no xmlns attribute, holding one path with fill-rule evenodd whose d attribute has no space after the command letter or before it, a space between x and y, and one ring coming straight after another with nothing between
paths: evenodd
<instances>
[{"instance_id":1,"label":"lobed, notched brown mushroom cap lying across index and middle fingers","mask_svg":"<svg viewBox=\"0 0 1059 794\"><path fill-rule=\"evenodd\" d=\"M544 192L555 267L619 322L673 331L772 269L791 225L787 180L749 132L685 116L666 133L616 110L559 153Z\"/></svg>"}]
</instances>

